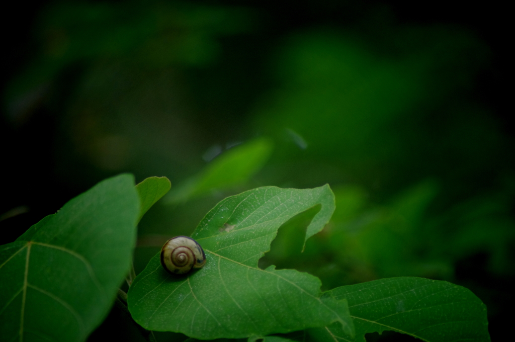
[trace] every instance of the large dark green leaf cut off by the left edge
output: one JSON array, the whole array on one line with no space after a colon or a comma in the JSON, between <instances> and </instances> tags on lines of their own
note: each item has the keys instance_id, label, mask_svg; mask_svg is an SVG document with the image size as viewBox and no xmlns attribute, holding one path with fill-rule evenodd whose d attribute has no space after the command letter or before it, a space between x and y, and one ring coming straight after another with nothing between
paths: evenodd
<instances>
[{"instance_id":1,"label":"large dark green leaf cut off by the left edge","mask_svg":"<svg viewBox=\"0 0 515 342\"><path fill-rule=\"evenodd\" d=\"M2 246L2 340L85 340L129 270L139 211L133 176L120 175Z\"/></svg>"}]
</instances>

